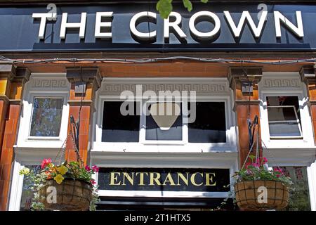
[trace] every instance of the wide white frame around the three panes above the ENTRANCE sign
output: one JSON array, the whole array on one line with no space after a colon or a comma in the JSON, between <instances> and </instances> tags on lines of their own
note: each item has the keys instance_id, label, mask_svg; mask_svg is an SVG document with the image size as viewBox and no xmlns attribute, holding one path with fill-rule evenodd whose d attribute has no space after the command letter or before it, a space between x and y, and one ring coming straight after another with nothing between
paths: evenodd
<instances>
[{"instance_id":1,"label":"wide white frame around the three panes above the ENTRANCE sign","mask_svg":"<svg viewBox=\"0 0 316 225\"><path fill-rule=\"evenodd\" d=\"M225 78L224 78L225 79ZM112 79L110 79L112 80ZM115 81L115 79L113 79ZM131 79L133 82L133 79ZM164 79L154 79L155 82L159 82ZM169 80L169 79L168 79ZM179 84L183 80L190 80L185 78L171 79L171 82L178 82ZM196 82L199 79L192 79ZM209 82L216 79L201 79L201 82ZM218 78L220 82L223 79ZM128 79L126 82L129 85ZM150 82L150 79L145 80ZM214 81L213 81L214 82ZM225 79L227 82L227 79ZM103 79L102 84L106 84L106 79ZM216 82L214 82L216 83ZM115 86L116 84L114 84ZM125 84L124 84L125 85ZM102 89L102 85L101 88ZM122 101L119 95L103 94L100 89L96 93L96 105L98 111L94 114L93 124L96 129L93 130L93 143L91 151L114 151L114 152L237 152L237 139L236 139L236 125L235 114L232 111L232 92L227 91L225 94L209 94L199 95L197 94L197 102L199 101L218 101L225 103L225 124L226 124L226 142L225 143L189 143L188 142L188 128L187 124L183 123L183 140L182 141L152 141L145 140L145 117L140 116L140 139L138 143L135 142L102 142L102 120L103 120L103 102L104 101ZM120 93L119 93L120 94ZM139 101L139 98L136 99ZM143 105L142 104L140 105Z\"/></svg>"}]
</instances>

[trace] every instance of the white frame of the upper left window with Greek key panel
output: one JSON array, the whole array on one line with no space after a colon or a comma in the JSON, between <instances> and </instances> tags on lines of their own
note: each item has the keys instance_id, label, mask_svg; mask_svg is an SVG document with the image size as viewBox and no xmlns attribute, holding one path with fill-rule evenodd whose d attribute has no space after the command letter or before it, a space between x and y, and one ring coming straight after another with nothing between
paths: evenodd
<instances>
[{"instance_id":1,"label":"white frame of the upper left window with Greek key panel","mask_svg":"<svg viewBox=\"0 0 316 225\"><path fill-rule=\"evenodd\" d=\"M59 136L30 136L34 98L63 98ZM16 148L60 148L67 136L70 83L65 73L32 73L25 84ZM27 131L27 132L25 132ZM49 145L47 145L49 141Z\"/></svg>"}]
</instances>

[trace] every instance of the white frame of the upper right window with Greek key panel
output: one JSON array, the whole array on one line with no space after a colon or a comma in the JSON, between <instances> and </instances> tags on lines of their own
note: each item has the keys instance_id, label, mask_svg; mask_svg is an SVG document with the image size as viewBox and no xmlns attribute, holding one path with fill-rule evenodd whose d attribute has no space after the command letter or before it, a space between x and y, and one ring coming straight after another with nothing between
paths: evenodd
<instances>
[{"instance_id":1,"label":"white frame of the upper right window with Greek key panel","mask_svg":"<svg viewBox=\"0 0 316 225\"><path fill-rule=\"evenodd\" d=\"M314 130L308 91L298 72L263 72L258 83L263 156L270 166L310 166L315 162ZM270 139L267 96L297 96L301 115L301 139Z\"/></svg>"}]
</instances>

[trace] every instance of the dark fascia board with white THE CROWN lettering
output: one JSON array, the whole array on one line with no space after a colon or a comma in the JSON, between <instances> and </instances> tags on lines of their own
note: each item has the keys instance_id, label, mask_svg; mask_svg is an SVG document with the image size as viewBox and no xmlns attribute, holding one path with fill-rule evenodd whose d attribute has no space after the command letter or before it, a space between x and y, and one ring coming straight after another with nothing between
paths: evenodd
<instances>
[{"instance_id":1,"label":"dark fascia board with white THE CROWN lettering","mask_svg":"<svg viewBox=\"0 0 316 225\"><path fill-rule=\"evenodd\" d=\"M0 8L0 51L315 51L315 5Z\"/></svg>"}]
</instances>

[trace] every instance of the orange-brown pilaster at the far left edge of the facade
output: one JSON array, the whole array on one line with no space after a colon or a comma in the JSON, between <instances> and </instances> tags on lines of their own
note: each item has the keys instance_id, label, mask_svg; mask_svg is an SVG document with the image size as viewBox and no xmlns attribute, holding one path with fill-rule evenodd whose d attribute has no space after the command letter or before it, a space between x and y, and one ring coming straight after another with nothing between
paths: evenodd
<instances>
[{"instance_id":1,"label":"orange-brown pilaster at the far left edge of the facade","mask_svg":"<svg viewBox=\"0 0 316 225\"><path fill-rule=\"evenodd\" d=\"M18 132L23 87L29 75L27 68L0 65L0 210L6 210L8 206L13 146Z\"/></svg>"}]
</instances>

